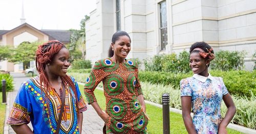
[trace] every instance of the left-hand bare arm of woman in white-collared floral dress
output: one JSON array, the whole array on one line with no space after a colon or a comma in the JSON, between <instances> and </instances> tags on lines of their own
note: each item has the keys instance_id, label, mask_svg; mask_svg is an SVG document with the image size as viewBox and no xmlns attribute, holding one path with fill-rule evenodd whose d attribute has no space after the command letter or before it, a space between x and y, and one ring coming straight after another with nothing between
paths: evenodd
<instances>
[{"instance_id":1,"label":"left-hand bare arm of woman in white-collared floral dress","mask_svg":"<svg viewBox=\"0 0 256 134\"><path fill-rule=\"evenodd\" d=\"M181 97L181 107L182 107L182 118L187 129L187 132L197 133L190 116L191 111L191 96L182 96Z\"/></svg>"}]
</instances>

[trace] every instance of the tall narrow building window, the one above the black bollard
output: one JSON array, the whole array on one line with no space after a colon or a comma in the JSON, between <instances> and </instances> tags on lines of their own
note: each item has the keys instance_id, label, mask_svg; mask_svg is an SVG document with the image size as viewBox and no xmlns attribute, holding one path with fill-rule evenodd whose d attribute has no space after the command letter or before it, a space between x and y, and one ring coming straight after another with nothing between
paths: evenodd
<instances>
[{"instance_id":1,"label":"tall narrow building window, the one above the black bollard","mask_svg":"<svg viewBox=\"0 0 256 134\"><path fill-rule=\"evenodd\" d=\"M168 44L166 1L159 3L159 7L160 7L159 9L160 9L161 50L165 50L165 46Z\"/></svg>"}]
</instances>

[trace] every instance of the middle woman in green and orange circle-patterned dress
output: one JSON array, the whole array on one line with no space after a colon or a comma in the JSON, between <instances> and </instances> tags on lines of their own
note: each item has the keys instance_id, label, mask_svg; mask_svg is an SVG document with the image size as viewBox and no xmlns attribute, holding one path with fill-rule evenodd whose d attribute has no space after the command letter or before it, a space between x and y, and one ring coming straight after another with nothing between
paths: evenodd
<instances>
[{"instance_id":1,"label":"middle woman in green and orange circle-patterned dress","mask_svg":"<svg viewBox=\"0 0 256 134\"><path fill-rule=\"evenodd\" d=\"M88 103L105 122L103 133L146 133L148 118L138 64L125 59L130 50L130 36L124 31L116 32L112 37L110 58L95 63L84 86ZM93 93L101 81L106 98L105 113Z\"/></svg>"}]
</instances>

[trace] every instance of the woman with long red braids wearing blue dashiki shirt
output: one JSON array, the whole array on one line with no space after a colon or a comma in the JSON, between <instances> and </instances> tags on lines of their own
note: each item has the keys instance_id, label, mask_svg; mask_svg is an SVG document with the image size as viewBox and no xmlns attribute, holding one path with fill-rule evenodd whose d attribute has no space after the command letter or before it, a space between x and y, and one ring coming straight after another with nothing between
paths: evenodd
<instances>
[{"instance_id":1,"label":"woman with long red braids wearing blue dashiki shirt","mask_svg":"<svg viewBox=\"0 0 256 134\"><path fill-rule=\"evenodd\" d=\"M69 66L69 51L61 42L48 41L38 46L39 76L20 86L7 121L16 133L81 132L82 112L87 106L75 79L66 75ZM62 97L65 103L57 131ZM27 125L30 121L33 131Z\"/></svg>"}]
</instances>

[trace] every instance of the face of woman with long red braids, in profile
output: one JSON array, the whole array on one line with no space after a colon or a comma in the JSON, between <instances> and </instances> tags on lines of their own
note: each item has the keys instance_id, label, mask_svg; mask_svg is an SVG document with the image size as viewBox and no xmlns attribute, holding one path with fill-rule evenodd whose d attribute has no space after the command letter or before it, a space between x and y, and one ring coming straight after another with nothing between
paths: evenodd
<instances>
[{"instance_id":1,"label":"face of woman with long red braids, in profile","mask_svg":"<svg viewBox=\"0 0 256 134\"><path fill-rule=\"evenodd\" d=\"M48 76L64 77L66 76L67 69L70 66L69 50L65 47L61 48L54 56L50 65L46 65Z\"/></svg>"}]
</instances>

